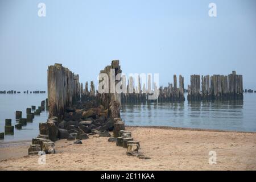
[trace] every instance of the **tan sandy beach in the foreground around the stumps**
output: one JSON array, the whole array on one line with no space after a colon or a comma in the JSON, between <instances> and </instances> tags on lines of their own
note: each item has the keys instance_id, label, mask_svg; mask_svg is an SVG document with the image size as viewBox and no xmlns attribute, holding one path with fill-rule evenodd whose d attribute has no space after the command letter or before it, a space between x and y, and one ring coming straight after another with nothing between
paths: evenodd
<instances>
[{"instance_id":1,"label":"tan sandy beach in the foreground around the stumps","mask_svg":"<svg viewBox=\"0 0 256 182\"><path fill-rule=\"evenodd\" d=\"M65 139L55 142L56 154L28 156L28 143L0 147L1 170L255 170L256 133L126 127L140 151L151 159L127 156L125 148L108 138L90 136L82 144ZM216 151L217 164L210 165L209 151Z\"/></svg>"}]
</instances>

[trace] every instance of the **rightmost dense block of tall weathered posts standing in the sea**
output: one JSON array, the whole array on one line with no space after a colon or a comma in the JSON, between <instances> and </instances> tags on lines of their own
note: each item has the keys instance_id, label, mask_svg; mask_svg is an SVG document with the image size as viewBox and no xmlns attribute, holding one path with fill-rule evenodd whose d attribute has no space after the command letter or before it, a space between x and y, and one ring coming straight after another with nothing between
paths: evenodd
<instances>
[{"instance_id":1,"label":"rightmost dense block of tall weathered posts standing in the sea","mask_svg":"<svg viewBox=\"0 0 256 182\"><path fill-rule=\"evenodd\" d=\"M228 76L191 75L188 101L243 100L243 77L236 71Z\"/></svg>"}]
</instances>

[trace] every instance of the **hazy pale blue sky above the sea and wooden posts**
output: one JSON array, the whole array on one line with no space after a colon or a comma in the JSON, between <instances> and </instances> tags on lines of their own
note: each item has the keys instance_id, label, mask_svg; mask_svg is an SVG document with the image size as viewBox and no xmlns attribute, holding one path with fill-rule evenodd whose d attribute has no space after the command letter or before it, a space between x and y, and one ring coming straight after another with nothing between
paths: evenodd
<instances>
[{"instance_id":1,"label":"hazy pale blue sky above the sea and wooden posts","mask_svg":"<svg viewBox=\"0 0 256 182\"><path fill-rule=\"evenodd\" d=\"M38 16L38 3L46 17ZM209 3L217 17L208 15ZM97 80L119 59L123 73L243 75L256 89L256 1L0 0L0 90L47 89L47 68L62 63Z\"/></svg>"}]
</instances>

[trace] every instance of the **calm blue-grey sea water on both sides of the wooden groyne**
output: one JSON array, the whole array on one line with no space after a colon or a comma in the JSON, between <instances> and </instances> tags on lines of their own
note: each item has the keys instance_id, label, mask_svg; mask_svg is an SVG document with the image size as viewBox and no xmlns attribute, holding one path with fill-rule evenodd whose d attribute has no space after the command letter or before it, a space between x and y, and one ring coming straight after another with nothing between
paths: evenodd
<instances>
[{"instance_id":1,"label":"calm blue-grey sea water on both sides of the wooden groyne","mask_svg":"<svg viewBox=\"0 0 256 182\"><path fill-rule=\"evenodd\" d=\"M15 111L39 106L47 94L0 94L0 132L5 130L5 119L11 118L14 126ZM256 131L256 94L244 94L243 101L187 102L149 105L123 105L121 117L131 126L172 126L199 129ZM5 135L5 141L27 140L39 134L39 122L46 122L48 112L35 116L22 130Z\"/></svg>"}]
</instances>

